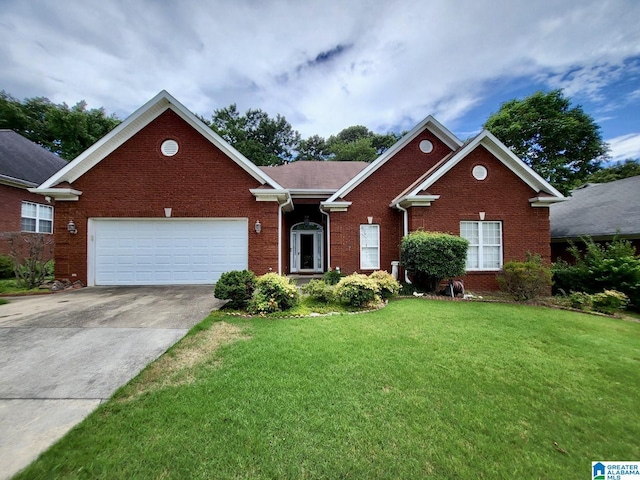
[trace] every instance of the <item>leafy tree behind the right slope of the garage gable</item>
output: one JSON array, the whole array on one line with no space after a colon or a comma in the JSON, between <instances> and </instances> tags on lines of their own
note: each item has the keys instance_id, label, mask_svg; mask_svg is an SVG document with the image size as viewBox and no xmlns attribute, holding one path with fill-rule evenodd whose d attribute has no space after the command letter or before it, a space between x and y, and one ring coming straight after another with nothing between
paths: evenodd
<instances>
[{"instance_id":1,"label":"leafy tree behind the right slope of the garage gable","mask_svg":"<svg viewBox=\"0 0 640 480\"><path fill-rule=\"evenodd\" d=\"M241 115L235 103L215 110L206 123L256 165L290 162L300 143L300 134L283 116L271 118L260 109Z\"/></svg>"}]
</instances>

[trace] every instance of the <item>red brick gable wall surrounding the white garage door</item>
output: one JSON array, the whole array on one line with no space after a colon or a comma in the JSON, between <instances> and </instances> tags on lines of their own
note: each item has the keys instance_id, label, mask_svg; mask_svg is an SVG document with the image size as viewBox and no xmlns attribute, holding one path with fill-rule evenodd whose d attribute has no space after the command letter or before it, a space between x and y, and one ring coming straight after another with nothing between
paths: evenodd
<instances>
[{"instance_id":1,"label":"red brick gable wall surrounding the white garage door","mask_svg":"<svg viewBox=\"0 0 640 480\"><path fill-rule=\"evenodd\" d=\"M165 157L160 146L180 149ZM249 269L278 270L278 204L257 202L259 182L168 110L73 183L77 202L58 202L55 216L56 277L87 282L87 219L100 217L248 217ZM76 235L67 232L73 219ZM260 220L262 232L254 224Z\"/></svg>"}]
</instances>

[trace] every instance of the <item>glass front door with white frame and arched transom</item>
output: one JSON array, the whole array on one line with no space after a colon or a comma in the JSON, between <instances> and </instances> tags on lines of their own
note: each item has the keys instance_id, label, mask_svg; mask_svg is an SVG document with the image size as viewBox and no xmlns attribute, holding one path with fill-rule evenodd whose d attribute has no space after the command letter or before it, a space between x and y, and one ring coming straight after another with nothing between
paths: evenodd
<instances>
[{"instance_id":1,"label":"glass front door with white frame and arched transom","mask_svg":"<svg viewBox=\"0 0 640 480\"><path fill-rule=\"evenodd\" d=\"M291 273L322 273L323 263L322 226L304 222L291 227Z\"/></svg>"}]
</instances>

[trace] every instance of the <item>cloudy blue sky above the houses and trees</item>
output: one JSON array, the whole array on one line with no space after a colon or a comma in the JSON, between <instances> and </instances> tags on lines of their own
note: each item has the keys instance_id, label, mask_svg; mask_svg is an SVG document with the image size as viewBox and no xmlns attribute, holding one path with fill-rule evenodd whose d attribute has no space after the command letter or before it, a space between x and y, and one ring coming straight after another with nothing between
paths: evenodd
<instances>
[{"instance_id":1,"label":"cloudy blue sky above the houses and trees","mask_svg":"<svg viewBox=\"0 0 640 480\"><path fill-rule=\"evenodd\" d=\"M124 119L167 90L303 138L433 115L461 140L563 89L611 161L640 158L638 0L0 0L0 90Z\"/></svg>"}]
</instances>

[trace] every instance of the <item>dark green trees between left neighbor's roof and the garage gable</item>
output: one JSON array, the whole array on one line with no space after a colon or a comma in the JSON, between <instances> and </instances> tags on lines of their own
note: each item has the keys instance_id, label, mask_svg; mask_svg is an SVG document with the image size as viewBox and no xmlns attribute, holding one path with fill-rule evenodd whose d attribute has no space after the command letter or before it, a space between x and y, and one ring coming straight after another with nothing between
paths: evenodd
<instances>
[{"instance_id":1,"label":"dark green trees between left neighbor's roof and the garage gable","mask_svg":"<svg viewBox=\"0 0 640 480\"><path fill-rule=\"evenodd\" d=\"M44 97L20 101L0 92L0 128L14 130L65 160L77 157L119 123L103 108L87 109L84 100L69 107Z\"/></svg>"}]
</instances>

